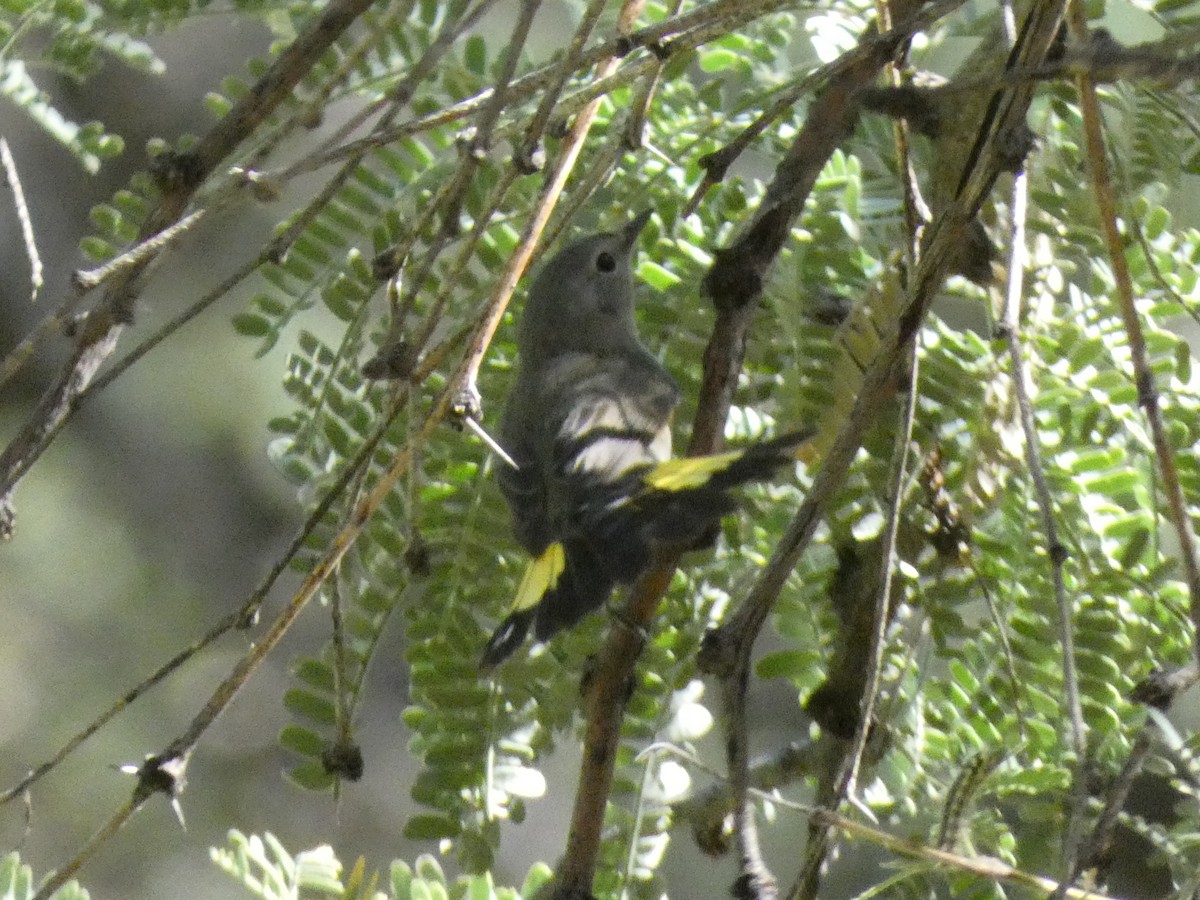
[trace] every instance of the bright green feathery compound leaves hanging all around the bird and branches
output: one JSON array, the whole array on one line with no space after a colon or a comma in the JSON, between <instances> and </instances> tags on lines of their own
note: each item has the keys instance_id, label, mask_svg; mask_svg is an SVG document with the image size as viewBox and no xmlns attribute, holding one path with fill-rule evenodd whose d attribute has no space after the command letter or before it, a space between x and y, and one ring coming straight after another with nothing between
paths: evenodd
<instances>
[{"instance_id":1,"label":"bright green feathery compound leaves hanging all around the bird and branches","mask_svg":"<svg viewBox=\"0 0 1200 900\"><path fill-rule=\"evenodd\" d=\"M44 59L83 77L100 53L154 68L152 54L133 35L196 12L175 4L60 6L8 5L0 18L0 41L7 42L0 50L0 85L43 122L58 121L56 114L28 78L17 80L14 72L25 70L11 59L13 49L25 46L17 40L23 32L54 30ZM684 10L696 6L684 4ZM556 227L592 230L619 224L629 210L655 211L641 242L641 329L686 397L698 392L713 328L698 286L714 250L727 246L762 202L764 180L804 125L811 95L778 113L754 154L689 212L686 198L706 174L701 161L796 89L814 59L833 59L852 47L874 10L858 6L866 11L824 11L811 18L762 14L671 58L656 85L644 143L634 142L634 149L626 130L635 121L630 110L642 82L623 67L618 73L625 74L601 98L576 168L583 174L569 182L563 202L569 214ZM1090 12L1098 18L1146 6L1108 0L1091 4ZM1200 14L1195 2L1159 7L1145 13L1148 20L1171 24ZM282 37L299 31L314 8L256 5L245 11L269 13ZM344 176L330 176L328 191L305 197L310 205L290 212L264 239L259 256L250 260L258 280L253 299L232 317L252 352L262 355L280 343L289 348L283 380L293 409L270 424L276 437L269 452L295 485L300 503L318 509L367 448L365 464L319 517L293 566L313 571L353 521L355 504L396 460L407 460L400 485L322 589L320 599L342 630L294 664L294 684L283 697L294 721L281 736L299 757L289 776L304 788L329 790L346 774L331 760L354 743L355 716L374 686L371 664L382 638L403 629L409 672L403 720L412 733L409 751L422 766L409 786L421 811L409 820L406 835L436 842L468 874L450 884L438 863L425 857L415 874L394 865L383 888L365 880L361 864L343 882L328 847L293 857L270 835L233 833L232 848L215 851L214 858L257 896L296 896L300 890L331 896L529 895L540 872L538 878L530 874L533 881L518 894L492 887L500 823L520 823L528 804L545 793L539 761L578 725L577 676L606 625L602 616L592 617L551 644L518 654L493 677L479 674L479 650L504 616L523 564L505 536L493 463L479 443L449 428L416 439L448 383L450 364L432 365L424 380L412 383L364 374L365 362L397 348L414 354L409 371L436 359L436 350L454 356L461 336L485 314L544 185L542 175L517 170L508 151L508 143L520 145L541 97L538 90L518 90L522 82L510 85L485 152L475 158L464 151L470 136L461 130L474 119L463 110L481 108L482 92L514 52L505 29L468 29L437 60L433 74L416 84L407 80L445 29L474 8L466 0L431 0L372 10L364 28L335 42L244 143L238 158L227 161L230 173L233 167L242 174L265 173L259 186L272 197L302 170L330 162L346 167ZM667 7L652 2L644 20L667 14ZM606 19L610 31L611 25ZM978 42L992 25L989 16L950 17L914 50L914 65L936 62L953 41ZM269 64L252 62L250 78ZM518 60L517 73L535 71L530 50ZM572 73L564 96L588 84L586 72ZM226 115L251 85L227 79L209 97L214 115ZM376 136L342 148L334 160L302 155L294 166L278 161L280 148L290 149L295 133L334 101L354 98L383 108L409 90L413 118L389 139ZM1195 520L1200 376L1180 323L1200 320L1200 230L1181 223L1187 210L1177 204L1176 191L1200 164L1200 109L1181 88L1139 82L1105 88L1103 101L1146 352ZM1042 466L1054 498L1050 514L1068 550L1064 578L1088 734L1086 763L1090 781L1108 785L1147 719L1129 700L1130 691L1156 667L1187 662L1194 635L1142 397L1130 374L1134 348L1093 197L1081 179L1080 118L1067 83L1048 85L1030 116L1040 146L1028 161L1031 260L1020 330ZM62 124L54 130L85 161L107 152L98 131L85 134ZM553 160L564 138L560 128L548 134L546 151ZM161 142L155 149L166 158L168 146L184 151L190 142ZM923 163L928 152L924 145L914 149ZM469 168L467 157L474 160ZM859 386L863 366L856 353L871 352L872 328L895 325L902 294L896 271L904 258L898 248L906 241L900 168L890 124L870 116L824 166L770 271L726 425L728 439L749 442L798 424L836 431ZM455 196L464 172L469 178ZM238 184L235 174L215 179L198 204L215 205ZM155 176L136 176L94 210L96 233L84 252L97 260L114 258L139 234L160 194ZM1006 190L997 190L986 214L994 235L1006 232L1012 216ZM398 276L391 280L395 270ZM377 301L382 294L388 295L386 314ZM862 799L916 842L1060 872L1081 761L1064 727L1068 678L1045 511L1025 452L1006 336L995 326L1000 294L962 278L952 278L943 294L918 341L918 464L911 472L937 460L937 476L966 540L953 552L938 544L944 522L928 502L931 479L924 472L912 475L900 496L911 540L894 566L899 607L888 632L880 707L887 748L862 785ZM818 307L830 296L858 301L853 322L868 335L863 346L847 337L846 328L822 320ZM514 359L515 334L506 318L480 372L485 421L494 421ZM775 607L776 641L757 660L757 682L785 679L797 703L822 685L838 653L845 614L838 606L845 598L833 589L839 559L847 548L865 550L877 541L890 509L899 408L894 402L876 424L816 546ZM685 408L678 419L677 445L686 442L691 412ZM373 440L378 443L371 448ZM724 620L770 557L810 476L802 472L748 491L743 511L726 521L715 550L689 557L676 575L638 661L623 722L598 896L660 896L670 889L660 882L659 868L670 838L689 824L679 802L694 788L698 742L719 713L715 692L706 694L698 679L697 649L706 630ZM1156 863L1170 870L1177 886L1194 889L1200 869L1200 809L1190 802L1195 738L1168 739L1174 731L1157 727L1151 768L1189 803L1162 821L1126 815L1124 822L1158 848ZM816 740L818 731L814 725L809 737ZM1103 793L1092 793L1088 824L1099 816ZM778 809L793 794L779 792ZM763 809L776 811L767 802ZM772 827L803 829L788 814L778 814ZM554 852L546 848L547 858ZM947 886L955 896L1006 895L978 876L928 864L904 864L888 877L889 887L913 896ZM16 878L10 881L16 884ZM10 894L24 896L16 888Z\"/></svg>"}]
</instances>

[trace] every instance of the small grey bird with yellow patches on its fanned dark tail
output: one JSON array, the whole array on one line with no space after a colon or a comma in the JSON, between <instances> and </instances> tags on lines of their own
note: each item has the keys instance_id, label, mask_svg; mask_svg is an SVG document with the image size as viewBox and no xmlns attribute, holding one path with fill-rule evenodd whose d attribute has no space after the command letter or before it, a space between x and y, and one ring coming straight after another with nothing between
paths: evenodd
<instances>
[{"instance_id":1,"label":"small grey bird with yellow patches on its fanned dark tail","mask_svg":"<svg viewBox=\"0 0 1200 900\"><path fill-rule=\"evenodd\" d=\"M577 624L656 551L710 539L734 508L731 490L794 462L808 437L671 457L679 386L642 343L634 314L634 252L649 217L568 244L529 288L499 426L514 464L497 481L533 559L484 648L484 671L530 628L545 642Z\"/></svg>"}]
</instances>

